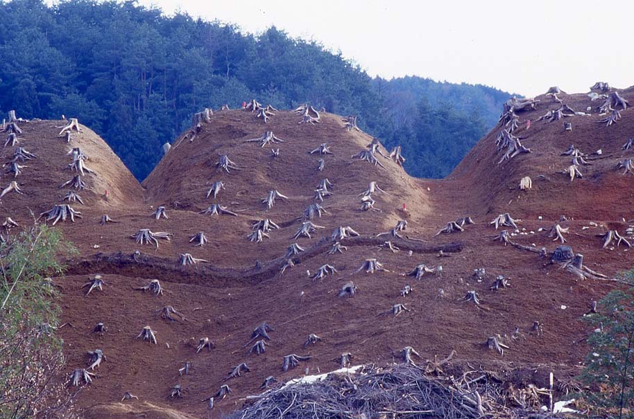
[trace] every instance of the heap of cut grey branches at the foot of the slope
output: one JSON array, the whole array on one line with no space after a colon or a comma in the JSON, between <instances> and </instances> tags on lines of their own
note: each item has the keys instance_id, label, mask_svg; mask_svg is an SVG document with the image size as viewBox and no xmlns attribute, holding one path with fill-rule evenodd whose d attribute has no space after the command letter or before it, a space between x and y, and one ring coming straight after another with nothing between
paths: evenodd
<instances>
[{"instance_id":1,"label":"heap of cut grey branches at the foot of the slope","mask_svg":"<svg viewBox=\"0 0 634 419\"><path fill-rule=\"evenodd\" d=\"M251 404L228 418L556 418L511 409L502 384L486 373L476 379L445 378L408 364L365 366L312 384L282 385L247 400Z\"/></svg>"}]
</instances>

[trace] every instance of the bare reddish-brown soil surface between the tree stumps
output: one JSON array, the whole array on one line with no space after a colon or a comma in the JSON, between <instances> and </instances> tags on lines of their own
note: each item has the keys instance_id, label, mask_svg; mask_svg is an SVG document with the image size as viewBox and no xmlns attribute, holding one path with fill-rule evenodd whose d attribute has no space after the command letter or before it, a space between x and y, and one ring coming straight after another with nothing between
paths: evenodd
<instances>
[{"instance_id":1,"label":"bare reddish-brown soil surface between the tree stumps","mask_svg":"<svg viewBox=\"0 0 634 419\"><path fill-rule=\"evenodd\" d=\"M634 103L633 88L621 93ZM320 124L311 126L298 125L300 116L291 112L276 112L267 125L250 112L217 112L194 141L177 139L142 186L87 128L68 145L56 138L55 125L62 125L61 121L33 121L22 124L24 140L20 144L38 157L26 163L29 167L17 178L26 194L4 197L0 216L28 225L32 222L29 208L39 214L65 195L67 190L58 186L71 177L71 172L62 170L70 162L67 150L79 146L89 155L87 165L97 175L86 177L87 190L80 193L86 205L74 204L83 219L58 224L80 256L68 260L68 275L57 279L63 292L62 321L73 326L62 328L69 371L87 365L88 350L100 348L108 357L96 380L80 394L78 403L87 418L196 418L207 413L203 400L221 384L229 384L232 394L216 401L213 414L219 417L240 407L246 395L257 393L269 375L283 382L302 375L305 368L310 373L330 371L337 368L334 359L346 352L358 364L388 364L404 346L413 346L426 358L456 350L458 362L511 374L554 371L556 378L565 380L579 372L588 351L583 342L590 328L582 321L583 314L592 300L616 285L579 280L535 253L504 247L492 240L496 232L489 222L499 213L509 212L522 220L520 229L528 233L513 240L552 251L559 243L538 229L549 229L565 215L569 221L561 224L570 227L567 244L583 253L586 265L608 276L631 268L632 251L623 246L602 249L597 234L608 226L624 234L628 224L623 220L634 218L634 178L615 170L618 161L633 157L634 150L623 151L621 146L634 133L634 114L628 109L622 112L621 121L605 127L596 123L601 119L599 101L591 102L585 94L560 97L576 110L591 106L592 116L568 118L573 132L563 132L560 121L533 122L524 130L526 119L535 121L547 109L556 109L556 104L541 96L535 111L520 114L522 128L515 133L533 150L530 154L497 164L502 154L495 146L496 127L442 180L409 177L382 157L379 161L385 168L351 161L350 156L363 150L372 138L346 131L341 118L333 114L323 115ZM266 130L285 141L275 145L280 148L277 159L270 157L270 146L243 142ZM328 143L334 152L325 157L323 172L316 171L319 157L309 154L320 143ZM581 169L583 179L572 183L560 174L570 160L560 153L571 143L588 154L603 150L592 166ZM12 150L3 150L3 161L10 154ZM216 170L219 154L229 154L243 170L230 174ZM533 190L520 191L520 178L526 175L545 175L546 180L535 180ZM333 195L323 202L329 214L313 221L325 229L312 239L291 240L300 225L296 218L314 202L314 189L324 177L334 184ZM2 187L10 181L8 175L1 179ZM226 190L218 199L206 199L207 188L216 180L224 181ZM373 195L382 212L359 211L357 195L370 181L377 181L389 194ZM106 189L108 199L103 197ZM278 199L266 211L261 199L272 189L287 195L289 201ZM228 206L238 216L198 214L213 203ZM406 235L422 242L395 240L400 252L379 250L370 236L388 231L402 219L403 204L409 208ZM169 220L151 216L158 205L167 207ZM119 223L100 226L104 213ZM447 222L465 215L476 224L466 226L463 233L432 237ZM248 242L250 223L263 218L280 224L281 229L272 231L271 238L260 244ZM590 222L598 226L590 226ZM344 243L347 251L329 256L325 254L329 243L324 240L338 226L352 226L368 239ZM173 239L161 241L158 249L136 244L130 235L142 228L173 233ZM203 248L189 243L189 237L198 231L209 238ZM295 241L307 252L296 258L295 267L280 275L286 247ZM459 244L461 251L438 258L437 249L451 242ZM137 261L132 259L136 250L142 252ZM186 252L209 262L180 267L178 256ZM377 258L390 272L354 274L366 258ZM325 263L339 272L323 281L307 277L307 271L312 274ZM402 275L420 263L442 265L443 273L420 281ZM472 276L479 267L488 273L482 282ZM102 274L107 286L103 292L84 296L81 287L92 274ZM511 287L491 292L490 284L499 274L511 279ZM153 278L161 281L163 296L134 289ZM348 280L358 286L358 294L337 298ZM402 297L405 284L414 291ZM443 297L439 289L443 289ZM470 289L479 293L481 310L459 301ZM379 315L395 303L404 303L411 311L399 317ZM173 305L186 320L170 323L160 319L156 312L164 305ZM103 336L91 332L98 321L108 326ZM263 321L275 328L271 346L264 355L247 355L250 334ZM530 331L533 321L543 324L542 335ZM156 346L135 339L146 325L157 332ZM509 339L511 348L504 356L483 345L491 335L510 336L515 326L522 335ZM302 344L309 333L323 341L305 350ZM201 337L209 337L215 348L196 354ZM291 353L312 358L284 373L282 357ZM193 363L191 374L180 377L178 368L185 361ZM223 382L241 362L251 372ZM184 388L180 400L167 398L175 384ZM126 391L139 400L119 403Z\"/></svg>"}]
</instances>

